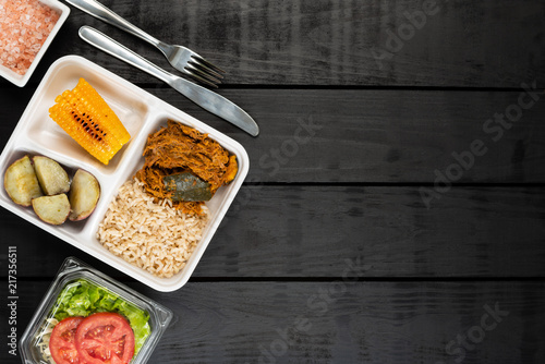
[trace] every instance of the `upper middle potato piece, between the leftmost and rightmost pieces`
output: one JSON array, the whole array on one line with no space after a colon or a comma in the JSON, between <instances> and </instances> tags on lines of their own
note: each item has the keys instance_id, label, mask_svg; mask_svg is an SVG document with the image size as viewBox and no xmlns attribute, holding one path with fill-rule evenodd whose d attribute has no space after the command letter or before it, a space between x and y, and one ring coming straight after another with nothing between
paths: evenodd
<instances>
[{"instance_id":1,"label":"upper middle potato piece, between the leftmost and rightmost pieces","mask_svg":"<svg viewBox=\"0 0 545 364\"><path fill-rule=\"evenodd\" d=\"M61 165L44 156L35 156L33 161L44 194L52 196L69 192L70 179Z\"/></svg>"}]
</instances>

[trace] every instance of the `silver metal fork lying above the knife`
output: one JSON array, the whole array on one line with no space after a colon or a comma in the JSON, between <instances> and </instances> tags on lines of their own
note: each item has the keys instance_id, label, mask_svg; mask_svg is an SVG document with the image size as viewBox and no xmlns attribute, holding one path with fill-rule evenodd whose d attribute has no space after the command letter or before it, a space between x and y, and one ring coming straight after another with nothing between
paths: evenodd
<instances>
[{"instance_id":1,"label":"silver metal fork lying above the knife","mask_svg":"<svg viewBox=\"0 0 545 364\"><path fill-rule=\"evenodd\" d=\"M225 71L193 50L160 41L95 0L66 0L66 2L157 47L174 69L193 80L211 87L218 87L217 85L221 83Z\"/></svg>"}]
</instances>

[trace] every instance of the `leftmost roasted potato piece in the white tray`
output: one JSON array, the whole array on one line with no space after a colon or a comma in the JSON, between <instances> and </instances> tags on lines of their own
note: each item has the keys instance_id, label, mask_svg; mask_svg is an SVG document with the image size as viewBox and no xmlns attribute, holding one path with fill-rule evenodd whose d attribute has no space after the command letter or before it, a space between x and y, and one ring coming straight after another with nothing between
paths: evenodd
<instances>
[{"instance_id":1,"label":"leftmost roasted potato piece in the white tray","mask_svg":"<svg viewBox=\"0 0 545 364\"><path fill-rule=\"evenodd\" d=\"M8 167L3 186L10 198L22 206L31 206L33 198L43 195L28 156L24 156Z\"/></svg>"}]
</instances>

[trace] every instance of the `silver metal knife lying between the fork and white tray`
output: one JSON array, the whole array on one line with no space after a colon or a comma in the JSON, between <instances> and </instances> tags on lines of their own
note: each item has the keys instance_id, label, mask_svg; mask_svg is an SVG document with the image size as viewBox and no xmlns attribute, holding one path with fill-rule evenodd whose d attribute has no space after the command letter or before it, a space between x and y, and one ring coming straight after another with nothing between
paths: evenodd
<instances>
[{"instance_id":1,"label":"silver metal knife lying between the fork and white tray","mask_svg":"<svg viewBox=\"0 0 545 364\"><path fill-rule=\"evenodd\" d=\"M239 126L250 135L259 134L259 126L254 119L223 96L160 69L90 26L82 26L80 37L98 49L164 81L203 109Z\"/></svg>"}]
</instances>

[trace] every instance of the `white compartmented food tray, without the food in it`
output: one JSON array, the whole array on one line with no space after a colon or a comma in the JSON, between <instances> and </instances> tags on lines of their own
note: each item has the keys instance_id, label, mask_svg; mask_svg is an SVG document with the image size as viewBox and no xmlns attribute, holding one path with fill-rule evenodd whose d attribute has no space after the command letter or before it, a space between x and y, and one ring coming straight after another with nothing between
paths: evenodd
<instances>
[{"instance_id":1,"label":"white compartmented food tray, without the food in it","mask_svg":"<svg viewBox=\"0 0 545 364\"><path fill-rule=\"evenodd\" d=\"M108 165L102 165L87 154L49 118L48 110L55 104L55 98L64 90L74 88L81 77L96 88L131 134L131 141ZM237 156L239 170L234 180L220 187L206 203L209 221L184 268L173 277L159 278L110 253L99 243L96 233L119 187L132 179L143 166L142 153L148 135L160 126L166 126L169 119L207 133L210 138ZM101 187L96 209L85 220L51 226L41 221L32 207L13 203L4 189L0 192L0 205L158 291L174 291L187 281L240 190L250 167L247 154L238 142L77 56L59 59L45 75L0 155L2 178L7 168L24 155L44 155L57 160L69 171L82 168L93 173Z\"/></svg>"}]
</instances>

